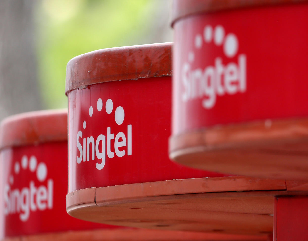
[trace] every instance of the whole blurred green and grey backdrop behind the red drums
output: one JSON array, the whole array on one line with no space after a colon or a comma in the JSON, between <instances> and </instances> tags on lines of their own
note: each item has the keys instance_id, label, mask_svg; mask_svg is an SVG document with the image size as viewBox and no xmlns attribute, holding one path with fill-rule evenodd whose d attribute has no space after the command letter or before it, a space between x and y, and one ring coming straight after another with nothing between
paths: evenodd
<instances>
[{"instance_id":1,"label":"whole blurred green and grey backdrop behind the red drums","mask_svg":"<svg viewBox=\"0 0 308 241\"><path fill-rule=\"evenodd\" d=\"M1 0L0 120L67 108L67 62L109 47L171 42L170 0Z\"/></svg>"}]
</instances>

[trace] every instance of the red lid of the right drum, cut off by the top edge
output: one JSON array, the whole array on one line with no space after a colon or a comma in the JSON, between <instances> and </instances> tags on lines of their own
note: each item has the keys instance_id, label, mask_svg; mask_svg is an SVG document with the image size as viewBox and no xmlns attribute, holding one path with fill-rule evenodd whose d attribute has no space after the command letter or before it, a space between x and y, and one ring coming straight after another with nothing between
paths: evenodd
<instances>
[{"instance_id":1,"label":"red lid of the right drum, cut off by the top edge","mask_svg":"<svg viewBox=\"0 0 308 241\"><path fill-rule=\"evenodd\" d=\"M301 3L308 0L173 0L172 26L179 18L192 14L231 10L244 7Z\"/></svg>"}]
</instances>

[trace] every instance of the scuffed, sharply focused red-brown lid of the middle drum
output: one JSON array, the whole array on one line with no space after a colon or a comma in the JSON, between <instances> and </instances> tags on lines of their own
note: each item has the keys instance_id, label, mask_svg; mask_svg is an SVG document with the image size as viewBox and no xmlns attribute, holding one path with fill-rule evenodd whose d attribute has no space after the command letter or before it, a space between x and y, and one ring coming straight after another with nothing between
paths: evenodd
<instances>
[{"instance_id":1,"label":"scuffed, sharply focused red-brown lid of the middle drum","mask_svg":"<svg viewBox=\"0 0 308 241\"><path fill-rule=\"evenodd\" d=\"M71 59L66 69L69 91L101 82L172 74L172 43L95 50Z\"/></svg>"}]
</instances>

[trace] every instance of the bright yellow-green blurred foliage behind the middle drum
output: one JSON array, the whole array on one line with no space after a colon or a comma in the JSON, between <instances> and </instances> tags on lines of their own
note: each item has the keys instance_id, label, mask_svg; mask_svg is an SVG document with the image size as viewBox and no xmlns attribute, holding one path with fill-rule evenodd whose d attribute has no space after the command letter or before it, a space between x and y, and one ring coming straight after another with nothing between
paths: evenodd
<instances>
[{"instance_id":1,"label":"bright yellow-green blurred foliage behind the middle drum","mask_svg":"<svg viewBox=\"0 0 308 241\"><path fill-rule=\"evenodd\" d=\"M38 2L38 78L44 106L67 106L64 81L71 58L102 48L172 41L169 4L166 0Z\"/></svg>"}]
</instances>

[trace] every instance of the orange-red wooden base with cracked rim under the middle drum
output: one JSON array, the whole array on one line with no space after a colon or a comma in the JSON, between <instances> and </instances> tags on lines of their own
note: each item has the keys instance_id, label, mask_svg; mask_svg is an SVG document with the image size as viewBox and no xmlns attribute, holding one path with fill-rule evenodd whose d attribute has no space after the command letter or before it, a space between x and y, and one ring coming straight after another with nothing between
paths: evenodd
<instances>
[{"instance_id":1,"label":"orange-red wooden base with cracked rim under the middle drum","mask_svg":"<svg viewBox=\"0 0 308 241\"><path fill-rule=\"evenodd\" d=\"M67 195L67 212L128 227L269 235L274 198L290 193L307 193L306 184L250 177L179 179L75 191Z\"/></svg>"}]
</instances>

